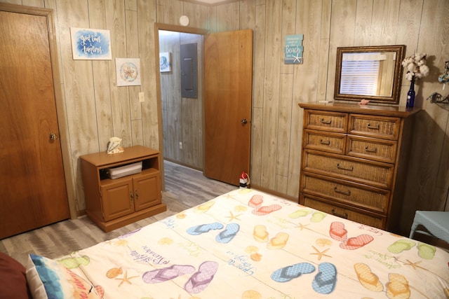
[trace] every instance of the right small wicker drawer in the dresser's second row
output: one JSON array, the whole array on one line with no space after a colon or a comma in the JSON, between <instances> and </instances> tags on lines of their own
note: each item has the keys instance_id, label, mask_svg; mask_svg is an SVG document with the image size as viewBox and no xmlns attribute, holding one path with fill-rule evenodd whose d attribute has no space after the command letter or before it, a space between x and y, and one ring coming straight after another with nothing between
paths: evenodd
<instances>
[{"instance_id":1,"label":"right small wicker drawer in the dresser's second row","mask_svg":"<svg viewBox=\"0 0 449 299\"><path fill-rule=\"evenodd\" d=\"M357 137L348 135L347 155L380 162L394 163L396 160L396 141Z\"/></svg>"}]
</instances>

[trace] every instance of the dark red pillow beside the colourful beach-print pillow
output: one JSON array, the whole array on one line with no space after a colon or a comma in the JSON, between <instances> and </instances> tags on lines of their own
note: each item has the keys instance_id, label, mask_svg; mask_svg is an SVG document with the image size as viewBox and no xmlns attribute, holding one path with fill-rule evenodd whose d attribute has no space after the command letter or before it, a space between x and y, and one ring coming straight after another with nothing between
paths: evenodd
<instances>
[{"instance_id":1,"label":"dark red pillow beside the colourful beach-print pillow","mask_svg":"<svg viewBox=\"0 0 449 299\"><path fill-rule=\"evenodd\" d=\"M0 294L2 299L29 299L25 267L0 252Z\"/></svg>"}]
</instances>

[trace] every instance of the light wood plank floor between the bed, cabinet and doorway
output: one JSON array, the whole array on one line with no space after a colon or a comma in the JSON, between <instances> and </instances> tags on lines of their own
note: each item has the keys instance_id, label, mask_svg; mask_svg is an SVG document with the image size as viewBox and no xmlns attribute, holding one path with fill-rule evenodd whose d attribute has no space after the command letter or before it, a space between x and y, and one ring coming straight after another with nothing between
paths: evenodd
<instances>
[{"instance_id":1,"label":"light wood plank floor between the bed, cabinet and doorway","mask_svg":"<svg viewBox=\"0 0 449 299\"><path fill-rule=\"evenodd\" d=\"M81 216L1 239L0 251L12 256L22 265L26 264L29 253L58 258L98 242L119 237L238 188L207 179L202 172L172 162L165 161L164 167L166 190L162 193L162 202L167 205L167 211L112 232L103 232L88 217Z\"/></svg>"}]
</instances>

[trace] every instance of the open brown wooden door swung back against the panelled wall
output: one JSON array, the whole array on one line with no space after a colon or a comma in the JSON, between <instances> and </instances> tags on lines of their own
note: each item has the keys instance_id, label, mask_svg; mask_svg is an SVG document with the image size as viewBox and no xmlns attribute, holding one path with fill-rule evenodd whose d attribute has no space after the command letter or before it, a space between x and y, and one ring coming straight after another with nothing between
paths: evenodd
<instances>
[{"instance_id":1,"label":"open brown wooden door swung back against the panelled wall","mask_svg":"<svg viewBox=\"0 0 449 299\"><path fill-rule=\"evenodd\" d=\"M250 170L253 31L204 41L204 175L239 186Z\"/></svg>"}]
</instances>

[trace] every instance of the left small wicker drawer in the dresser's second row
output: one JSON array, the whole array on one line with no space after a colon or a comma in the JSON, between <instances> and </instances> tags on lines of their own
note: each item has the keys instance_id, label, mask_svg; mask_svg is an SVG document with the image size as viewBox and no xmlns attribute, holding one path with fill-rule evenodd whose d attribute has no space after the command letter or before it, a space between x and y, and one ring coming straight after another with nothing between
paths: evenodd
<instances>
[{"instance_id":1,"label":"left small wicker drawer in the dresser's second row","mask_svg":"<svg viewBox=\"0 0 449 299\"><path fill-rule=\"evenodd\" d=\"M344 154L346 134L304 130L304 148Z\"/></svg>"}]
</instances>

